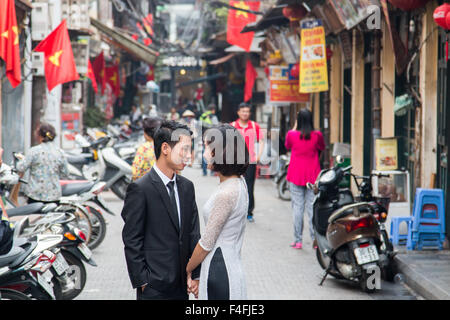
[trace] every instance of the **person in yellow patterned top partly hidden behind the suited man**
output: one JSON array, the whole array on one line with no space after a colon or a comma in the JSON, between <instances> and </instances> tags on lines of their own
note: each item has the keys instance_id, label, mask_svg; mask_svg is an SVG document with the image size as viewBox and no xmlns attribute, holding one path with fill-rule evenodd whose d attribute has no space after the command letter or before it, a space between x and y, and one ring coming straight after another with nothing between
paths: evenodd
<instances>
[{"instance_id":1,"label":"person in yellow patterned top partly hidden behind the suited man","mask_svg":"<svg viewBox=\"0 0 450 320\"><path fill-rule=\"evenodd\" d=\"M142 178L156 162L153 136L163 119L158 117L145 118L143 121L145 142L139 146L131 165L133 181Z\"/></svg>"}]
</instances>

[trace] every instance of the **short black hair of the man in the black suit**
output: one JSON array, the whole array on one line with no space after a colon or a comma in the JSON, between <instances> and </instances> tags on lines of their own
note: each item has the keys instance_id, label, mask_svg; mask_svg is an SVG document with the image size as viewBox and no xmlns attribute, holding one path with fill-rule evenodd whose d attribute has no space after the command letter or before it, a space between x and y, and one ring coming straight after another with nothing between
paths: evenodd
<instances>
[{"instance_id":1,"label":"short black hair of the man in the black suit","mask_svg":"<svg viewBox=\"0 0 450 320\"><path fill-rule=\"evenodd\" d=\"M159 156L161 155L161 147L163 143L166 142L171 148L173 148L180 141L180 135L190 137L192 135L192 131L189 130L188 126L179 122L173 120L162 121L161 126L158 130L156 130L153 136L156 159L159 159Z\"/></svg>"}]
</instances>

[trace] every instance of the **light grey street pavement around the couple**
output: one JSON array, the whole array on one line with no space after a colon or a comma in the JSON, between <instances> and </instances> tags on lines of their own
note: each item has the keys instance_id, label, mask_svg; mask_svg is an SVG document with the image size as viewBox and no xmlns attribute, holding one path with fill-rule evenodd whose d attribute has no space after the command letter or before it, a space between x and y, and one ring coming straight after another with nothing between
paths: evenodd
<instances>
[{"instance_id":1,"label":"light grey street pavement around the couple","mask_svg":"<svg viewBox=\"0 0 450 320\"><path fill-rule=\"evenodd\" d=\"M211 191L217 187L217 177L203 177L201 170L186 168L183 175L196 188L200 227L203 230L202 207ZM94 250L98 267L87 265L87 282L78 300L134 300L123 252L120 217L123 202L111 192L104 199L116 216L107 215L107 234L104 242ZM302 250L289 246L293 240L290 202L277 198L269 179L258 179L255 184L256 208L254 223L248 223L242 248L246 272L248 298L251 300L414 300L416 296L401 283L382 281L381 290L363 293L358 285L329 276L319 286L323 270L320 268L305 221ZM306 219L305 219L306 220ZM193 297L191 296L191 299Z\"/></svg>"}]
</instances>

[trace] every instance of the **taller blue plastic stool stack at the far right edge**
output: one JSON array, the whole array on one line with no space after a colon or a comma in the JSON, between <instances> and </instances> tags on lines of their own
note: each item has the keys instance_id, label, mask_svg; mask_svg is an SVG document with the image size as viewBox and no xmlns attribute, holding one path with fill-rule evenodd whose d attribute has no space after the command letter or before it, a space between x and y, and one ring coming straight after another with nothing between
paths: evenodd
<instances>
[{"instance_id":1,"label":"taller blue plastic stool stack at the far right edge","mask_svg":"<svg viewBox=\"0 0 450 320\"><path fill-rule=\"evenodd\" d=\"M408 229L406 248L422 250L424 246L443 249L445 241L445 207L442 189L416 190L413 218Z\"/></svg>"}]
</instances>

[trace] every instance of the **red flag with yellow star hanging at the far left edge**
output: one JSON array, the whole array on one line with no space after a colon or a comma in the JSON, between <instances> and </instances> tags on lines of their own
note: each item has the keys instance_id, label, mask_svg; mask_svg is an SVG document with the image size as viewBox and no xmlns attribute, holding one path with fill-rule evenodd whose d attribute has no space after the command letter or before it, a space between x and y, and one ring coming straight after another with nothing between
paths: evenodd
<instances>
[{"instance_id":1,"label":"red flag with yellow star hanging at the far left edge","mask_svg":"<svg viewBox=\"0 0 450 320\"><path fill-rule=\"evenodd\" d=\"M0 58L13 88L22 81L20 71L19 29L14 0L0 0Z\"/></svg>"}]
</instances>

